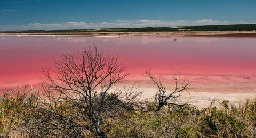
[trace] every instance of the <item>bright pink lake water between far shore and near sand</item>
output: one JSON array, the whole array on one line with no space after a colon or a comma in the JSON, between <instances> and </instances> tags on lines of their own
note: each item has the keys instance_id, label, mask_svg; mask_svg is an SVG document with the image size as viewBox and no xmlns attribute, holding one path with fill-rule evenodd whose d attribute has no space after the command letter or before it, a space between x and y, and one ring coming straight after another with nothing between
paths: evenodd
<instances>
[{"instance_id":1,"label":"bright pink lake water between far shore and near sand","mask_svg":"<svg viewBox=\"0 0 256 138\"><path fill-rule=\"evenodd\" d=\"M53 56L76 53L89 45L105 54L118 55L131 74L130 79L145 73L145 68L166 75L183 69L192 81L200 80L195 76L224 76L208 82L225 82L232 77L238 79L229 81L250 82L256 76L255 37L5 36L0 39L0 88L38 84L42 81L42 68L54 66Z\"/></svg>"}]
</instances>

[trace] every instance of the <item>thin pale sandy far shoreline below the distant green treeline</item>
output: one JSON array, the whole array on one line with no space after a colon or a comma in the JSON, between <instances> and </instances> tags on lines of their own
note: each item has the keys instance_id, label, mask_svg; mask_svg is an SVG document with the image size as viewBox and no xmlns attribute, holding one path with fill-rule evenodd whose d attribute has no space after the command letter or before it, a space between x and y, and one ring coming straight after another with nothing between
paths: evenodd
<instances>
[{"instance_id":1,"label":"thin pale sandy far shoreline below the distant green treeline","mask_svg":"<svg viewBox=\"0 0 256 138\"><path fill-rule=\"evenodd\" d=\"M137 36L211 36L256 37L256 31L189 31L189 32L79 32L79 33L0 33L0 36L83 36L83 37L137 37Z\"/></svg>"}]
</instances>

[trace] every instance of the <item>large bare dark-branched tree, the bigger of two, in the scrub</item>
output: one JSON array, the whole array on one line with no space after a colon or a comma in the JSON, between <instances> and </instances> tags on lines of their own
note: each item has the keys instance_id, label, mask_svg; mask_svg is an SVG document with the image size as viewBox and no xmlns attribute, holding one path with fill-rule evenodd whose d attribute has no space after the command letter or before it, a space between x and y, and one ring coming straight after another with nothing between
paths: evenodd
<instances>
[{"instance_id":1,"label":"large bare dark-branched tree, the bigger of two, in the scrub","mask_svg":"<svg viewBox=\"0 0 256 138\"><path fill-rule=\"evenodd\" d=\"M95 47L54 61L53 73L44 70L43 96L27 118L38 135L83 137L91 132L107 137L102 130L106 119L127 117L126 113L135 113L134 108L141 106L142 91L135 85L109 92L127 76L116 56L104 57Z\"/></svg>"}]
</instances>

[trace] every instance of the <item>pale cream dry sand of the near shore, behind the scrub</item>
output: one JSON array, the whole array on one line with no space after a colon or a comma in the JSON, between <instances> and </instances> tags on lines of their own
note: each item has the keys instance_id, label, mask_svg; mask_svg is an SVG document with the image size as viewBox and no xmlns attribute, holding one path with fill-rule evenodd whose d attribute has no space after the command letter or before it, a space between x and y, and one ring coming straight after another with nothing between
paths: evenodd
<instances>
[{"instance_id":1,"label":"pale cream dry sand of the near shore, behind the scrub","mask_svg":"<svg viewBox=\"0 0 256 138\"><path fill-rule=\"evenodd\" d=\"M113 88L111 88L109 91L114 92L115 90L121 90L124 88L124 86L127 86L129 84L124 85L114 85ZM22 89L24 85L20 85L19 87L15 87L13 89ZM35 89L40 89L39 85L30 85L31 87ZM148 85L135 85L138 86L138 90L143 90L141 100L147 100L147 101L154 101L154 96L158 89L154 84L148 83ZM12 88L10 88L12 89ZM6 88L0 89L0 96L1 92L6 91ZM167 86L167 93L171 92L173 89L171 86ZM223 100L228 100L231 105L239 106L241 103L244 103L247 99L255 99L256 93L253 91L244 91L244 92L207 92L202 90L188 90L185 92L182 92L180 94L180 98L177 99L177 102L179 103L188 103L191 106L195 106L199 109L207 108L207 107L221 107L220 103L214 102L219 101L222 102Z\"/></svg>"}]
</instances>

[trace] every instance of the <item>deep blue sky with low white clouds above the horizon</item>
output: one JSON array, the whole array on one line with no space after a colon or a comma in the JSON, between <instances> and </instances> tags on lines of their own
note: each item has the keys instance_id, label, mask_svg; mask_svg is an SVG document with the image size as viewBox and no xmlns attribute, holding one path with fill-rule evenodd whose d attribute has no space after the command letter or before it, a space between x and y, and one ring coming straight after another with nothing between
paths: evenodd
<instances>
[{"instance_id":1,"label":"deep blue sky with low white clouds above the horizon","mask_svg":"<svg viewBox=\"0 0 256 138\"><path fill-rule=\"evenodd\" d=\"M255 22L255 0L0 0L0 30Z\"/></svg>"}]
</instances>

